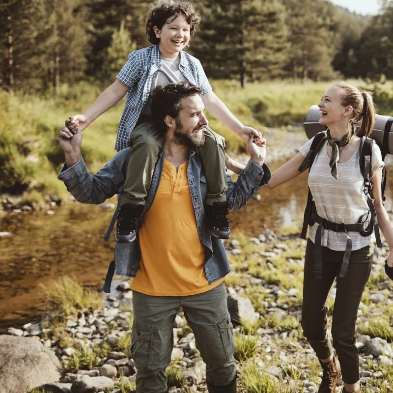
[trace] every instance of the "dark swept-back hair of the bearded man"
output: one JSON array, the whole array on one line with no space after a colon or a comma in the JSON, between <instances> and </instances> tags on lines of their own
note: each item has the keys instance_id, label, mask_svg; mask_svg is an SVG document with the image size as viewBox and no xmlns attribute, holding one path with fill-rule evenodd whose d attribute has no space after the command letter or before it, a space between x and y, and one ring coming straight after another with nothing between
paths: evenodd
<instances>
[{"instance_id":1,"label":"dark swept-back hair of the bearded man","mask_svg":"<svg viewBox=\"0 0 393 393\"><path fill-rule=\"evenodd\" d=\"M181 102L184 98L200 95L202 89L189 82L169 83L158 86L153 90L150 109L157 127L167 132L165 116L176 119L182 109Z\"/></svg>"}]
</instances>

